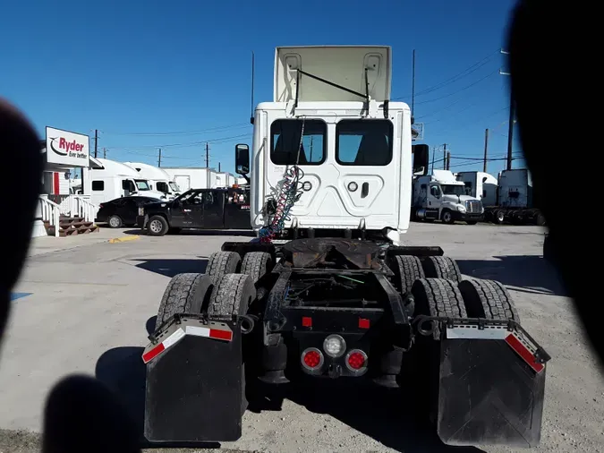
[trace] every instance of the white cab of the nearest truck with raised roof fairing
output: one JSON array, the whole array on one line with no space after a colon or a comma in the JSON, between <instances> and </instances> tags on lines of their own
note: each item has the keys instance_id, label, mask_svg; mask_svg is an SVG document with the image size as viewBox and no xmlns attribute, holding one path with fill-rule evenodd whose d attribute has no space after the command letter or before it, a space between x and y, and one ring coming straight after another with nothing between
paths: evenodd
<instances>
[{"instance_id":1,"label":"white cab of the nearest truck with raised roof fairing","mask_svg":"<svg viewBox=\"0 0 604 453\"><path fill-rule=\"evenodd\" d=\"M390 83L390 47L276 48L273 101L256 107L251 161L238 145L236 163L237 173L251 173L251 226L260 236L400 243L409 227L412 120L407 104L387 100Z\"/></svg>"}]
</instances>

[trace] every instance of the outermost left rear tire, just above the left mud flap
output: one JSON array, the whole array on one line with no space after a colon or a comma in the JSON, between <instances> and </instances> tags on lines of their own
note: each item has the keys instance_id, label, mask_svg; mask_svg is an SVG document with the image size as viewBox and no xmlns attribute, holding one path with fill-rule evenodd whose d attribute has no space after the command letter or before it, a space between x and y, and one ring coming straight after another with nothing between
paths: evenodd
<instances>
[{"instance_id":1,"label":"outermost left rear tire, just above the left mud flap","mask_svg":"<svg viewBox=\"0 0 604 453\"><path fill-rule=\"evenodd\" d=\"M200 313L208 297L212 281L204 274L175 275L164 291L157 309L155 328L169 320L174 314Z\"/></svg>"}]
</instances>

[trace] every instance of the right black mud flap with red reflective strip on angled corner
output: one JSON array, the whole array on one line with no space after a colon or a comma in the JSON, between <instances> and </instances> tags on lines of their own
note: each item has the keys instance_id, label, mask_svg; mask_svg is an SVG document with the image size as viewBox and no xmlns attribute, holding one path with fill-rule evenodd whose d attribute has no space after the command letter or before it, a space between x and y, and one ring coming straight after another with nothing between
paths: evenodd
<instances>
[{"instance_id":1,"label":"right black mud flap with red reflective strip on angled corner","mask_svg":"<svg viewBox=\"0 0 604 453\"><path fill-rule=\"evenodd\" d=\"M539 444L549 355L519 326L455 326L443 337L440 440L464 446Z\"/></svg>"}]
</instances>

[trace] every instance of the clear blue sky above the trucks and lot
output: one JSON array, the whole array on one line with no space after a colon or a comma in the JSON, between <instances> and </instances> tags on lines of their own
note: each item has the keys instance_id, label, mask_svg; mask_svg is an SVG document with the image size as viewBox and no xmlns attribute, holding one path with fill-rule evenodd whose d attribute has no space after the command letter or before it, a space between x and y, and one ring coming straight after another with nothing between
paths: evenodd
<instances>
[{"instance_id":1,"label":"clear blue sky above the trucks and lot","mask_svg":"<svg viewBox=\"0 0 604 453\"><path fill-rule=\"evenodd\" d=\"M163 167L234 169L234 144L251 144L250 62L256 102L272 100L275 47L379 44L393 47L392 98L411 104L430 147L451 150L453 170L505 158L509 115L503 46L514 4L499 0L64 0L0 7L0 96L50 125L94 135L99 157ZM520 149L515 146L515 156ZM442 165L442 162L435 167ZM503 160L489 162L497 175ZM515 167L523 167L521 159Z\"/></svg>"}]
</instances>

